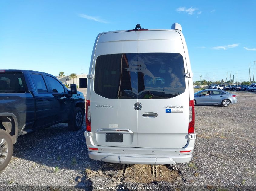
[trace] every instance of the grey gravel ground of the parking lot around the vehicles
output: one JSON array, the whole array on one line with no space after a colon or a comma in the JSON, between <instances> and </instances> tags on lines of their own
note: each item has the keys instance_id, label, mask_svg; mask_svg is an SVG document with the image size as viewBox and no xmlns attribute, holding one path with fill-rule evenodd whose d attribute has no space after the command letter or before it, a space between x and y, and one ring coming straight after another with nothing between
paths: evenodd
<instances>
[{"instance_id":1,"label":"grey gravel ground of the parking lot around the vehicles","mask_svg":"<svg viewBox=\"0 0 256 191\"><path fill-rule=\"evenodd\" d=\"M91 190L93 186L111 185L141 186L142 190L147 190L146 186L160 190L254 190L256 94L234 93L238 103L229 107L195 106L198 137L189 163L121 165L93 161L83 136L85 124L83 129L70 132L62 123L18 137L12 161L0 174L0 190L22 185L37 186L32 189L62 186L40 187L48 190Z\"/></svg>"}]
</instances>

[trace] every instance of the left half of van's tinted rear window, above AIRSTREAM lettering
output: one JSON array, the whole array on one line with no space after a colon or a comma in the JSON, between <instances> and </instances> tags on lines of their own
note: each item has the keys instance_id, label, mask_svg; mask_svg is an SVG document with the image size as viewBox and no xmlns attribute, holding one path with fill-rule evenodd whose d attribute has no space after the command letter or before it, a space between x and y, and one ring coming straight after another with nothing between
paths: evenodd
<instances>
[{"instance_id":1,"label":"left half of van's tinted rear window, above AIRSTREAM lettering","mask_svg":"<svg viewBox=\"0 0 256 191\"><path fill-rule=\"evenodd\" d=\"M137 99L137 57L137 53L98 56L95 93L109 99Z\"/></svg>"}]
</instances>

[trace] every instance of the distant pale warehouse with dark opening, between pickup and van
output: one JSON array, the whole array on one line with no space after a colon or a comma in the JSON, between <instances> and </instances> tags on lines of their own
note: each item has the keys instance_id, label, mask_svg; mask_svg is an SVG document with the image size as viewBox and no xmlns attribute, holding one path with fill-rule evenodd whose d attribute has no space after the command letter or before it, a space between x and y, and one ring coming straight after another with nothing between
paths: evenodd
<instances>
[{"instance_id":1,"label":"distant pale warehouse with dark opening, between pickup and van","mask_svg":"<svg viewBox=\"0 0 256 191\"><path fill-rule=\"evenodd\" d=\"M69 78L69 76L63 76L63 78L56 76L63 84L70 86L70 84L76 84L78 88L87 88L87 75L76 75L77 78ZM73 81L74 80L74 81Z\"/></svg>"}]
</instances>

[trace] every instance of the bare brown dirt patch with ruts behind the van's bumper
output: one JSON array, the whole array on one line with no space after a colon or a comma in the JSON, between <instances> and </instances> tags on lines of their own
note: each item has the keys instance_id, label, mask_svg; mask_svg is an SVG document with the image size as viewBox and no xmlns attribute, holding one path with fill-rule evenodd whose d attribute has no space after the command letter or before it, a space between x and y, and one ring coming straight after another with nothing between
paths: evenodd
<instances>
[{"instance_id":1,"label":"bare brown dirt patch with ruts behind the van's bumper","mask_svg":"<svg viewBox=\"0 0 256 191\"><path fill-rule=\"evenodd\" d=\"M182 183L182 176L177 170L165 165L142 164L111 164L106 163L94 170L86 169L79 178L85 183L93 185L115 186L122 183Z\"/></svg>"}]
</instances>

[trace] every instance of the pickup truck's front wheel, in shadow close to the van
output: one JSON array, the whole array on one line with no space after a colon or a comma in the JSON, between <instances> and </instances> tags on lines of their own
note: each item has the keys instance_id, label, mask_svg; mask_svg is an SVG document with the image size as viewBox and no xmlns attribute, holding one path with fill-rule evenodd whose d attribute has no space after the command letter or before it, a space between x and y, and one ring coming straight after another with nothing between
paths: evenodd
<instances>
[{"instance_id":1,"label":"pickup truck's front wheel, in shadow close to the van","mask_svg":"<svg viewBox=\"0 0 256 191\"><path fill-rule=\"evenodd\" d=\"M84 113L80 107L75 107L72 119L68 122L68 129L77 131L82 128L84 121Z\"/></svg>"}]
</instances>

